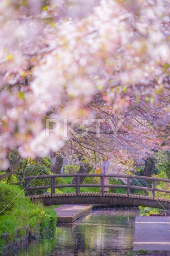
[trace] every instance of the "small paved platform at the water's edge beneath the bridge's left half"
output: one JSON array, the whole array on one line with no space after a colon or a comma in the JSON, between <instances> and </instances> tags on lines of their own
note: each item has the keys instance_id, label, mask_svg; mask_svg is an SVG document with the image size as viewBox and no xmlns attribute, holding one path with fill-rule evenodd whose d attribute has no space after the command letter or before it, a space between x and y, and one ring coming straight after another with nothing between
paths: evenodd
<instances>
[{"instance_id":1,"label":"small paved platform at the water's edge beneath the bridge's left half","mask_svg":"<svg viewBox=\"0 0 170 256\"><path fill-rule=\"evenodd\" d=\"M92 205L66 204L54 210L57 212L58 222L73 222L92 210Z\"/></svg>"}]
</instances>

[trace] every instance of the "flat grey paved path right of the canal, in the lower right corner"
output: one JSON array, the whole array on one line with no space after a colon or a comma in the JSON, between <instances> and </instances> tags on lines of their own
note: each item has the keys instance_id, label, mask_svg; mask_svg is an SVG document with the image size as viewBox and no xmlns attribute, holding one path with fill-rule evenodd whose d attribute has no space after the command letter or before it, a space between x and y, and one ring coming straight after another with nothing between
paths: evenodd
<instances>
[{"instance_id":1,"label":"flat grey paved path right of the canal, in the lower right corner","mask_svg":"<svg viewBox=\"0 0 170 256\"><path fill-rule=\"evenodd\" d=\"M141 249L170 251L170 217L136 217L133 250Z\"/></svg>"}]
</instances>

